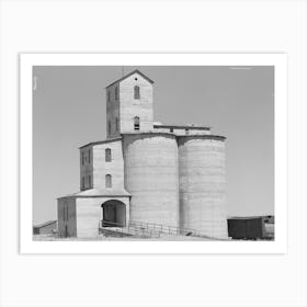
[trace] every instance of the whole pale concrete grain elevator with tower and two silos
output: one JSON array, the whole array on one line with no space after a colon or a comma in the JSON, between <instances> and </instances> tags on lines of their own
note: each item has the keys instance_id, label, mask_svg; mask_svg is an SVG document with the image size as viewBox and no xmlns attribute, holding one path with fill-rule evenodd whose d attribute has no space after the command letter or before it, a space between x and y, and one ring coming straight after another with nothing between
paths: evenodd
<instances>
[{"instance_id":1,"label":"whole pale concrete grain elevator with tower and two silos","mask_svg":"<svg viewBox=\"0 0 307 307\"><path fill-rule=\"evenodd\" d=\"M82 192L72 194L75 198L59 198L61 232L98 236L102 202L118 196L126 205L127 223L130 215L132 220L227 237L224 138L212 136L205 126L158 123L154 127L150 81L134 72L106 88L107 139L80 148ZM135 86L139 99L134 95ZM139 117L139 130L134 127L135 116ZM107 148L111 162L105 161ZM112 187L105 186L106 174L112 177Z\"/></svg>"}]
</instances>

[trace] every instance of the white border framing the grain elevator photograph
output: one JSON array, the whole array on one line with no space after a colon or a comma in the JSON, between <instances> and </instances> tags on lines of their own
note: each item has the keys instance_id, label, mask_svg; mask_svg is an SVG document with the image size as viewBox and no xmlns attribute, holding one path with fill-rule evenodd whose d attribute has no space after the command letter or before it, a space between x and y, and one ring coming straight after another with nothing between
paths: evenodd
<instances>
[{"instance_id":1,"label":"white border framing the grain elevator photograph","mask_svg":"<svg viewBox=\"0 0 307 307\"><path fill-rule=\"evenodd\" d=\"M32 94L34 66L274 66L274 241L34 241L32 235ZM55 203L56 206L56 203ZM21 253L286 253L286 54L20 54Z\"/></svg>"}]
</instances>

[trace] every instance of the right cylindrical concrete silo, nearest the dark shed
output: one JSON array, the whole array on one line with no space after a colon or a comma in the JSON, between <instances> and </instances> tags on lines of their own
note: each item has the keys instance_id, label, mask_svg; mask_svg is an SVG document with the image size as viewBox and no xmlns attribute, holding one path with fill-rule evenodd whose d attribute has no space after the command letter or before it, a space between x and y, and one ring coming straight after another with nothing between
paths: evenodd
<instances>
[{"instance_id":1,"label":"right cylindrical concrete silo, nearest the dark shed","mask_svg":"<svg viewBox=\"0 0 307 307\"><path fill-rule=\"evenodd\" d=\"M227 238L225 137L178 137L180 225L214 238Z\"/></svg>"}]
</instances>

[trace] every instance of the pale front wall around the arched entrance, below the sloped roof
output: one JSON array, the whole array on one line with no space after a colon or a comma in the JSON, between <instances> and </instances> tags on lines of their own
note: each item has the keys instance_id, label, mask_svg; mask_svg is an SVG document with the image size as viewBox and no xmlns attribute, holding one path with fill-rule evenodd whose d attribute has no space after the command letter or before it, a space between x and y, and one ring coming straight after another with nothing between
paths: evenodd
<instances>
[{"instance_id":1,"label":"pale front wall around the arched entrance, below the sloped roof","mask_svg":"<svg viewBox=\"0 0 307 307\"><path fill-rule=\"evenodd\" d=\"M99 223L103 218L101 205L111 200L126 205L126 224L129 223L128 197L79 197L77 198L78 238L95 238L99 235Z\"/></svg>"}]
</instances>

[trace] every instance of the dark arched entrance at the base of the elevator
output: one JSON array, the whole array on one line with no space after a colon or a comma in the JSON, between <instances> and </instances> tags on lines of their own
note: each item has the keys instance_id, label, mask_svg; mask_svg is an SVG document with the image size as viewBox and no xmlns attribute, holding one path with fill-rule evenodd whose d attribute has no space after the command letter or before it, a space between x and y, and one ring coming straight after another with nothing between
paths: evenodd
<instances>
[{"instance_id":1,"label":"dark arched entrance at the base of the elevator","mask_svg":"<svg viewBox=\"0 0 307 307\"><path fill-rule=\"evenodd\" d=\"M107 201L102 207L103 227L125 227L126 205L120 201Z\"/></svg>"}]
</instances>

